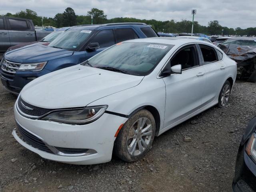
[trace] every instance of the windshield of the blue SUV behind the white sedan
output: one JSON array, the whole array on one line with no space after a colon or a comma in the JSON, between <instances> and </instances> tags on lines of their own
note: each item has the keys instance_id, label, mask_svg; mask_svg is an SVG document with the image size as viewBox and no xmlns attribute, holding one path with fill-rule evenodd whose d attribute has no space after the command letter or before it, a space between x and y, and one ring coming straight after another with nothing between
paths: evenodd
<instances>
[{"instance_id":1,"label":"windshield of the blue SUV behind the white sedan","mask_svg":"<svg viewBox=\"0 0 256 192\"><path fill-rule=\"evenodd\" d=\"M84 44L91 32L91 30L67 30L48 46L75 51L78 46Z\"/></svg>"}]
</instances>

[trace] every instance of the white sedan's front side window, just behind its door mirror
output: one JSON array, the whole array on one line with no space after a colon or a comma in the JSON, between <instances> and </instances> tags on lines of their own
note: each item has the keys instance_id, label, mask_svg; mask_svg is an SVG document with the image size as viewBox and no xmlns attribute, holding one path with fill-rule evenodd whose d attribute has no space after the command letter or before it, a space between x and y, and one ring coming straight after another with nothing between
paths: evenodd
<instances>
[{"instance_id":1,"label":"white sedan's front side window, just behind its door mirror","mask_svg":"<svg viewBox=\"0 0 256 192\"><path fill-rule=\"evenodd\" d=\"M171 66L178 64L181 64L182 70L199 66L194 46L183 48L172 58Z\"/></svg>"}]
</instances>

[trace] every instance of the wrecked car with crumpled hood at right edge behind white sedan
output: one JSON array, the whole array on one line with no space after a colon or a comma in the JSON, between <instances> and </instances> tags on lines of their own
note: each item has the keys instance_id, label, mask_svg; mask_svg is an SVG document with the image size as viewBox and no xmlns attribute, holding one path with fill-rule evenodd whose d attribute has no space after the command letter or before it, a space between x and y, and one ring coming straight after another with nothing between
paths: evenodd
<instances>
[{"instance_id":1,"label":"wrecked car with crumpled hood at right edge behind white sedan","mask_svg":"<svg viewBox=\"0 0 256 192\"><path fill-rule=\"evenodd\" d=\"M256 38L234 37L219 47L237 63L237 78L256 82Z\"/></svg>"}]
</instances>

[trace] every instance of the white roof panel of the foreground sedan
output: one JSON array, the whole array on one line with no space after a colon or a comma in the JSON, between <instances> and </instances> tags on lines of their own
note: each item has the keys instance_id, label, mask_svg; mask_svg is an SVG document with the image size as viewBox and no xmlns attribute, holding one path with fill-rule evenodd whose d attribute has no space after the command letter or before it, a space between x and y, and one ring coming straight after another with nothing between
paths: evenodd
<instances>
[{"instance_id":1,"label":"white roof panel of the foreground sedan","mask_svg":"<svg viewBox=\"0 0 256 192\"><path fill-rule=\"evenodd\" d=\"M197 40L194 38L182 38L182 37L152 37L152 38L142 38L129 40L128 42L148 42L148 43L161 43L161 44L170 44L170 45L184 45L186 43L205 43L212 45L210 42Z\"/></svg>"}]
</instances>

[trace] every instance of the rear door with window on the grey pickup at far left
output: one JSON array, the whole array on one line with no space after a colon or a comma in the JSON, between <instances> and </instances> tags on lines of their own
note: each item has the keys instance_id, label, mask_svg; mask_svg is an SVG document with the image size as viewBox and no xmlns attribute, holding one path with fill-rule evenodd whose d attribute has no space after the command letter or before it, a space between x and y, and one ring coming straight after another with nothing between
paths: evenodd
<instances>
[{"instance_id":1,"label":"rear door with window on the grey pickup at far left","mask_svg":"<svg viewBox=\"0 0 256 192\"><path fill-rule=\"evenodd\" d=\"M6 21L9 29L11 46L24 42L36 41L36 35L33 27L27 20L6 18Z\"/></svg>"}]
</instances>

